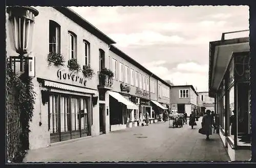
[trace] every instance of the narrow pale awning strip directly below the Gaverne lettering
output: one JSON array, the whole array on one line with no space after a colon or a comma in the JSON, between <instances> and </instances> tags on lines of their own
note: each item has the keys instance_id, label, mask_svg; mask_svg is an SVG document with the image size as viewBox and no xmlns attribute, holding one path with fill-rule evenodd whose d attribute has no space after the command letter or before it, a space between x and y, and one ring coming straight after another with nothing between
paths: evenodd
<instances>
[{"instance_id":1,"label":"narrow pale awning strip directly below the Gaverne lettering","mask_svg":"<svg viewBox=\"0 0 256 168\"><path fill-rule=\"evenodd\" d=\"M74 92L81 92L81 93L89 93L89 94L95 94L96 90L91 90L87 88L77 87L77 86L71 86L71 85L65 85L61 83L51 82L45 80L45 86L63 89L63 90L69 90Z\"/></svg>"}]
</instances>

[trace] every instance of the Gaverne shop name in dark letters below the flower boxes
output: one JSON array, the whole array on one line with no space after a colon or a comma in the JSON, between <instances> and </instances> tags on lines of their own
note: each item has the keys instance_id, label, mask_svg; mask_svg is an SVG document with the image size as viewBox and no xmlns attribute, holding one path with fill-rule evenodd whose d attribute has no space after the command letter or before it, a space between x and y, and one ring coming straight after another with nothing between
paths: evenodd
<instances>
[{"instance_id":1,"label":"Gaverne shop name in dark letters below the flower boxes","mask_svg":"<svg viewBox=\"0 0 256 168\"><path fill-rule=\"evenodd\" d=\"M60 80L71 80L71 81L74 81L74 82L77 82L83 86L86 86L86 80L84 80L82 77L80 77L78 74L75 74L75 73L67 73L65 72L65 69L59 69L57 71L57 77L58 79Z\"/></svg>"}]
</instances>

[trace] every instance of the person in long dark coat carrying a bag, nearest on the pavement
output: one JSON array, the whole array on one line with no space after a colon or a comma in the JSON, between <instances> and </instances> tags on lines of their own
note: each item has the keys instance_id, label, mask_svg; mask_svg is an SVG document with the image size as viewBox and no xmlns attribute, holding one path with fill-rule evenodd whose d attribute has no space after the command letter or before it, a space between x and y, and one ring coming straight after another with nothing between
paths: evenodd
<instances>
[{"instance_id":1,"label":"person in long dark coat carrying a bag, nearest on the pavement","mask_svg":"<svg viewBox=\"0 0 256 168\"><path fill-rule=\"evenodd\" d=\"M211 126L215 126L214 119L212 118L210 113L210 110L206 110L206 114L203 116L202 119L202 129L204 130L204 134L206 135L206 140L209 140L209 135L212 134Z\"/></svg>"}]
</instances>

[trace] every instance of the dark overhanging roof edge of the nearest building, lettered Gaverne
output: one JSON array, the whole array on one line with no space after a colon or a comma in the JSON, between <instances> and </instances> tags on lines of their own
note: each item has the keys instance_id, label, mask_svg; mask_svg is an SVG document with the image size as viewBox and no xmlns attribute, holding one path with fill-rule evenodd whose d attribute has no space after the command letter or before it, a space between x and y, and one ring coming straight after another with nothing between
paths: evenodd
<instances>
[{"instance_id":1,"label":"dark overhanging roof edge of the nearest building, lettered Gaverne","mask_svg":"<svg viewBox=\"0 0 256 168\"><path fill-rule=\"evenodd\" d=\"M68 7L53 7L63 15L67 16L74 22L76 22L79 26L86 29L102 41L106 42L107 44L114 44L116 43L114 40L112 40L110 37L106 36L104 33L102 33L100 30L98 30L96 27L94 27L90 22L88 22L86 19L82 18L80 15L78 15L75 11Z\"/></svg>"}]
</instances>

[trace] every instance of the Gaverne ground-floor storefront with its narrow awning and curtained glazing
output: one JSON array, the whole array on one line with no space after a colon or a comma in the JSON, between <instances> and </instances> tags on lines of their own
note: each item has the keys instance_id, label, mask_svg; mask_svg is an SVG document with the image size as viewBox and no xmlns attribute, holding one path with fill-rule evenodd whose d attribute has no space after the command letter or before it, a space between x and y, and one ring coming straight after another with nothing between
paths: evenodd
<instances>
[{"instance_id":1,"label":"Gaverne ground-floor storefront with its narrow awning and curtained glazing","mask_svg":"<svg viewBox=\"0 0 256 168\"><path fill-rule=\"evenodd\" d=\"M41 90L41 108L48 109L50 143L91 135L92 98L96 90L37 78ZM40 112L39 126L42 116ZM45 122L44 122L45 123Z\"/></svg>"}]
</instances>

